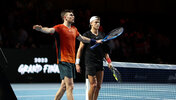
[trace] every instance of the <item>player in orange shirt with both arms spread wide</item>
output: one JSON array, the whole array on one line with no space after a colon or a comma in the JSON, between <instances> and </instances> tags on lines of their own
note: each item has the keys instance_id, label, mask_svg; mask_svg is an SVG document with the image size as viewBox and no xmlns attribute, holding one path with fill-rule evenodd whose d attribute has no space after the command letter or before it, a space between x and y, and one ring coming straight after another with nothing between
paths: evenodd
<instances>
[{"instance_id":1,"label":"player in orange shirt with both arms spread wide","mask_svg":"<svg viewBox=\"0 0 176 100\"><path fill-rule=\"evenodd\" d=\"M75 42L76 39L84 43L101 43L101 40L89 39L79 34L77 28L73 26L74 14L72 10L61 12L63 24L58 24L52 28L34 25L33 29L54 35L56 40L57 63L59 64L61 86L56 93L55 100L60 100L63 94L67 93L68 100L74 100L73 87L75 78Z\"/></svg>"}]
</instances>

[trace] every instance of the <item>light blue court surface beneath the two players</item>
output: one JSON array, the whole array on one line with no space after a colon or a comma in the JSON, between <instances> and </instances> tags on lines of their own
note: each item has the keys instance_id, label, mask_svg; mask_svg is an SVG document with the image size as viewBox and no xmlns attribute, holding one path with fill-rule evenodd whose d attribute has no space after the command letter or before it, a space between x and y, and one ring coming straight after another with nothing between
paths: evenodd
<instances>
[{"instance_id":1,"label":"light blue court surface beneath the two players","mask_svg":"<svg viewBox=\"0 0 176 100\"><path fill-rule=\"evenodd\" d=\"M11 84L18 100L54 100L59 83ZM74 100L85 100L85 83L75 83ZM62 100L67 100L64 94ZM98 100L176 100L176 84L103 83Z\"/></svg>"}]
</instances>

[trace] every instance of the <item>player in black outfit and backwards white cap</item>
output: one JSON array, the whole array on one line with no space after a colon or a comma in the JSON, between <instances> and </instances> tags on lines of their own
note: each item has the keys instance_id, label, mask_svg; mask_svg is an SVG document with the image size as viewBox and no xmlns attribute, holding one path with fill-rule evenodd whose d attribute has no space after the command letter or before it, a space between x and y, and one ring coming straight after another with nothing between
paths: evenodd
<instances>
[{"instance_id":1,"label":"player in black outfit and backwards white cap","mask_svg":"<svg viewBox=\"0 0 176 100\"><path fill-rule=\"evenodd\" d=\"M99 31L100 17L92 16L90 18L90 26L91 29L85 32L83 36L95 40L103 39L105 37L105 34ZM106 43L99 45L93 50L90 49L90 47L91 44L80 42L75 64L77 72L80 73L81 72L80 58L83 49L85 49L84 56L85 56L86 76L88 77L90 83L88 98L89 100L97 100L104 76L103 59L106 58L109 68L112 66L112 64L108 54L109 47Z\"/></svg>"}]
</instances>

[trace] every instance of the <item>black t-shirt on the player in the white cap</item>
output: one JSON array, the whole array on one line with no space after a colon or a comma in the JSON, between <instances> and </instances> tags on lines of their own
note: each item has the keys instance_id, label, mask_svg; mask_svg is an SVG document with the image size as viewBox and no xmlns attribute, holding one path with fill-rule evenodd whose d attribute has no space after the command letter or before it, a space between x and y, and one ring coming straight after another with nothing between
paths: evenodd
<instances>
[{"instance_id":1,"label":"black t-shirt on the player in the white cap","mask_svg":"<svg viewBox=\"0 0 176 100\"><path fill-rule=\"evenodd\" d=\"M91 31L87 31L83 34L83 36L99 40L103 39L105 37L105 34L103 32L99 32L98 35L94 35ZM105 56L105 53L109 52L109 47L107 43L103 43L93 50L90 49L91 44L85 43L85 65L86 66L103 66L103 58Z\"/></svg>"}]
</instances>

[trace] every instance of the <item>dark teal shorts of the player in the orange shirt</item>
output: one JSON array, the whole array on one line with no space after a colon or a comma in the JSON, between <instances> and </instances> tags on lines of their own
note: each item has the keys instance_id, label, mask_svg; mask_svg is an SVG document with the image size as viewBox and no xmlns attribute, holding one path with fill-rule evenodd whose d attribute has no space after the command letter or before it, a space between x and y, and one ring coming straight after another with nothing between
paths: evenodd
<instances>
[{"instance_id":1,"label":"dark teal shorts of the player in the orange shirt","mask_svg":"<svg viewBox=\"0 0 176 100\"><path fill-rule=\"evenodd\" d=\"M75 69L75 64L73 63L68 63L68 62L59 62L59 70L60 70L60 78L61 80L64 79L64 77L68 78L76 78L76 69Z\"/></svg>"}]
</instances>

